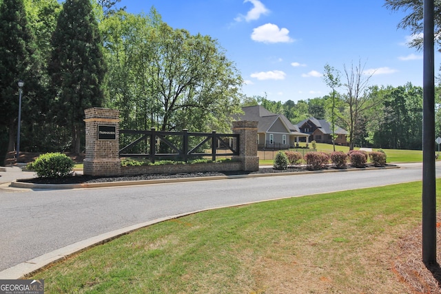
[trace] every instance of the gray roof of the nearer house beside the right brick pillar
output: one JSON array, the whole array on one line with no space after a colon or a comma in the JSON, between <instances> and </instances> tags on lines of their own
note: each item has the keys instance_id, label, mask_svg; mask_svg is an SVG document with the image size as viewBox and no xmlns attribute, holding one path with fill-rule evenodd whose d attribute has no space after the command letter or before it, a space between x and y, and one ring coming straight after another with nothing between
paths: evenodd
<instances>
[{"instance_id":1,"label":"gray roof of the nearer house beside the right brick pillar","mask_svg":"<svg viewBox=\"0 0 441 294\"><path fill-rule=\"evenodd\" d=\"M267 132L271 125L274 125L274 122L276 122L278 118L282 120L289 131L300 133L300 129L298 128L298 126L293 125L286 116L284 116L283 114L274 114L272 112L269 112L263 106L247 106L242 107L242 110L244 114L239 114L238 119L258 121L257 128L259 133Z\"/></svg>"}]
</instances>

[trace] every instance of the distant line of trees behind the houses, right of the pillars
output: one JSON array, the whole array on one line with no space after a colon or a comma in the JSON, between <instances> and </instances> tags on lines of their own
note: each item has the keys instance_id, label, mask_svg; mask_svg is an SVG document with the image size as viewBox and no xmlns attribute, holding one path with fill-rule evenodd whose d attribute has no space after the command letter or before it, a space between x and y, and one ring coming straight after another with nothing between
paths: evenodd
<instances>
[{"instance_id":1,"label":"distant line of trees behind the houses, right of the pillars","mask_svg":"<svg viewBox=\"0 0 441 294\"><path fill-rule=\"evenodd\" d=\"M441 136L441 89L436 89L436 134ZM349 109L345 93L336 92L336 125L348 129ZM353 145L391 149L422 149L422 87L407 83L398 87L368 87L363 96L367 105L358 115L354 127ZM291 123L311 116L331 121L331 94L307 101L269 101L265 96L243 98L243 104L262 105L270 112L283 114ZM435 144L435 143L434 143Z\"/></svg>"}]
</instances>

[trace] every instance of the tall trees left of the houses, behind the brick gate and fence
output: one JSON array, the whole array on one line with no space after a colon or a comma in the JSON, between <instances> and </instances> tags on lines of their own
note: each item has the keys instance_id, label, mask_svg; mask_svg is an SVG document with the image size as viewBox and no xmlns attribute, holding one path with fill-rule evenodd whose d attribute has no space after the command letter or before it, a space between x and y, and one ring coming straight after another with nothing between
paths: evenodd
<instances>
[{"instance_id":1,"label":"tall trees left of the houses, behind the brick gate and fence","mask_svg":"<svg viewBox=\"0 0 441 294\"><path fill-rule=\"evenodd\" d=\"M170 28L154 8L121 0L0 0L0 154L84 151L89 107L120 111L127 129L229 129L243 83L210 36Z\"/></svg>"}]
</instances>

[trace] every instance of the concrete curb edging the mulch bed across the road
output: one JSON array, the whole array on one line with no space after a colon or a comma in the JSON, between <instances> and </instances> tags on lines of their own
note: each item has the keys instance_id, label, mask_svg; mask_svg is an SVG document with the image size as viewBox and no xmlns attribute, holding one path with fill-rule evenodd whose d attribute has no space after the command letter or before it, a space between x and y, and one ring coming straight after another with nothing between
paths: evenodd
<instances>
[{"instance_id":1,"label":"concrete curb edging the mulch bed across the road","mask_svg":"<svg viewBox=\"0 0 441 294\"><path fill-rule=\"evenodd\" d=\"M399 169L395 167L367 167L365 169L327 169L324 171L292 171L285 173L274 174L250 174L250 175L233 175L233 176L206 176L196 178L170 178L170 179L156 179L156 180L127 180L120 182L90 182L83 184L32 184L30 182L14 182L10 183L10 187L22 189L87 189L87 188L104 188L104 187L123 187L136 185L154 185L154 184L168 184L173 182L196 182L201 180L229 180L236 178L260 178L265 176L295 176L302 174L322 174L331 172L347 172L347 171L367 171L373 169Z\"/></svg>"}]
</instances>

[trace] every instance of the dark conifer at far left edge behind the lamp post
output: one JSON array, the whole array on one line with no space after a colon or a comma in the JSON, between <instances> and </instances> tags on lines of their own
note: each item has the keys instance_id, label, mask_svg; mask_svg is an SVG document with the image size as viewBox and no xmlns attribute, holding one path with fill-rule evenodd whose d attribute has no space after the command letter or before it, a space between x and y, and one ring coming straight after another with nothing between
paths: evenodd
<instances>
[{"instance_id":1,"label":"dark conifer at far left edge behind the lamp post","mask_svg":"<svg viewBox=\"0 0 441 294\"><path fill-rule=\"evenodd\" d=\"M23 0L0 4L0 128L8 132L8 151L14 149L19 96L17 81L25 82L25 97L36 92L41 76L39 52L28 24Z\"/></svg>"}]
</instances>

